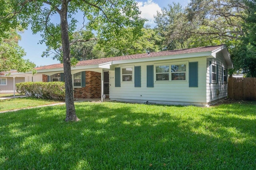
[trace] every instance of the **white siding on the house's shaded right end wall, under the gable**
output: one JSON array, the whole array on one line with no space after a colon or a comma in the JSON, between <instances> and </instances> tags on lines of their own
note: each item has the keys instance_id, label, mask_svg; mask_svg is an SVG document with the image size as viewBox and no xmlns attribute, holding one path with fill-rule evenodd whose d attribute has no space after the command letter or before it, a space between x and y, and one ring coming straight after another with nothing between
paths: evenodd
<instances>
[{"instance_id":1,"label":"white siding on the house's shaded right end wall, under the gable","mask_svg":"<svg viewBox=\"0 0 256 170\"><path fill-rule=\"evenodd\" d=\"M218 65L218 82L210 83L210 62ZM228 68L222 53L218 53L216 58L207 59L206 99L209 104L218 102L228 96L228 83L222 84L222 67ZM217 94L217 91L219 91L219 94Z\"/></svg>"}]
</instances>

